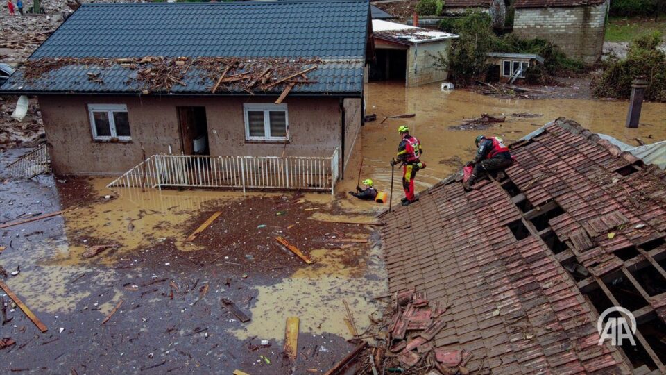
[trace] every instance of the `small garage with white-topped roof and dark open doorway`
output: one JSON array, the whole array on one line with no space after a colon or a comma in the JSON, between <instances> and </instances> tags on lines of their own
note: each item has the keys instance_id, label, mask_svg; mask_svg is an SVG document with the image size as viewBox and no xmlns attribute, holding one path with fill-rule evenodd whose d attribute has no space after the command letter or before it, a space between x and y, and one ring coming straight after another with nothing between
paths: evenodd
<instances>
[{"instance_id":1,"label":"small garage with white-topped roof and dark open doorway","mask_svg":"<svg viewBox=\"0 0 666 375\"><path fill-rule=\"evenodd\" d=\"M403 81L405 86L445 81L449 72L438 65L458 35L373 19L376 60L369 81Z\"/></svg>"}]
</instances>

